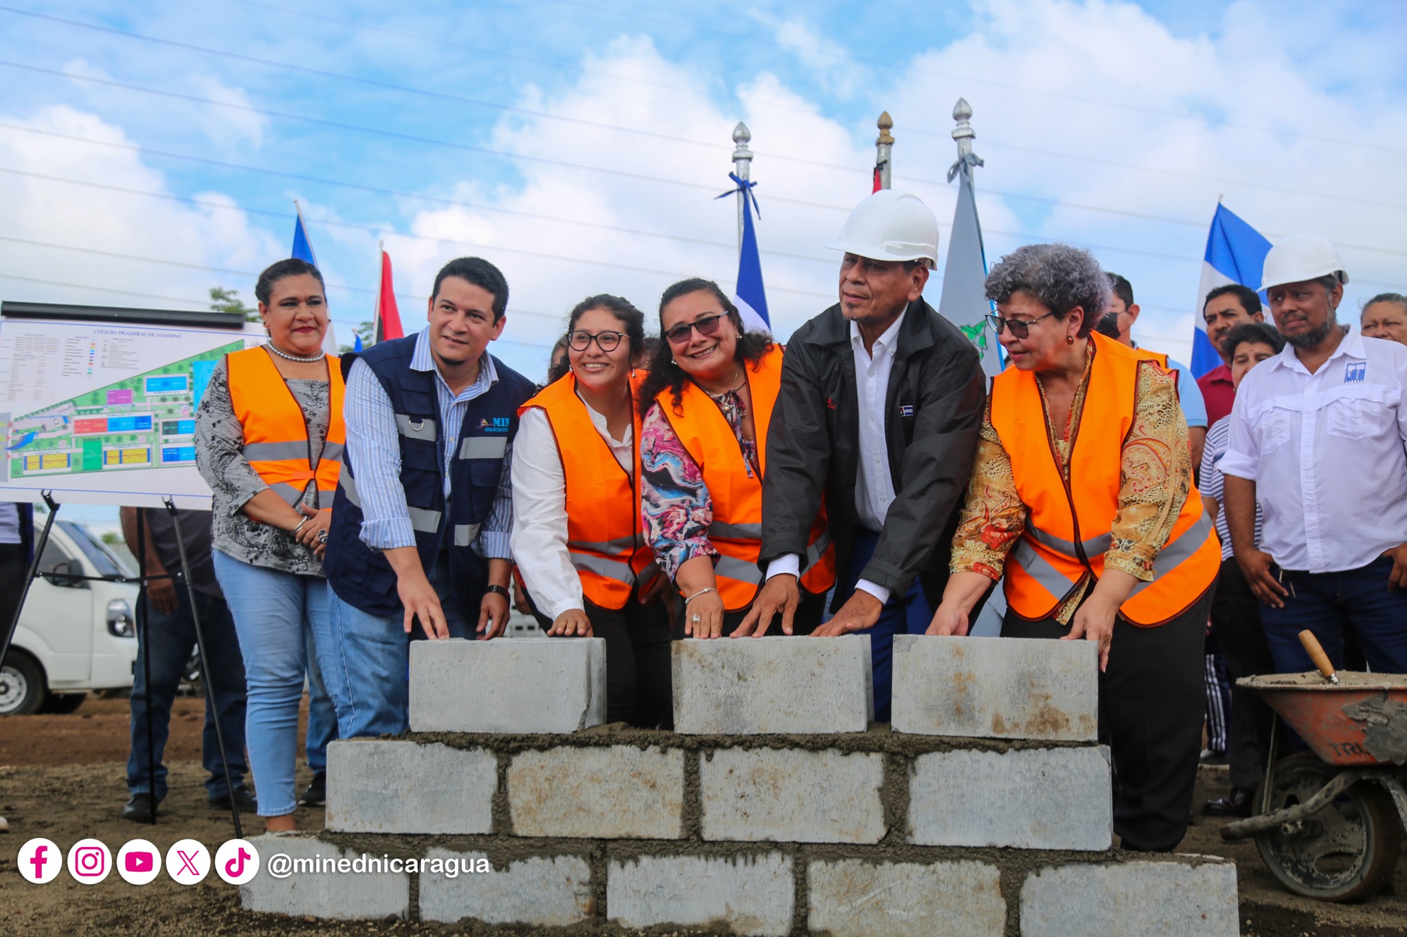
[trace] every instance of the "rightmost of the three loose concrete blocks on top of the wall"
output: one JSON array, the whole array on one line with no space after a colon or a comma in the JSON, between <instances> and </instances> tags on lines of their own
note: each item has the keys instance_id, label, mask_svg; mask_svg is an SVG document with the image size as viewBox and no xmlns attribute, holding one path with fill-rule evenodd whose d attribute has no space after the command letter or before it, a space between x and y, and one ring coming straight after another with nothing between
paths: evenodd
<instances>
[{"instance_id":1,"label":"rightmost of the three loose concrete blocks on top of the wall","mask_svg":"<svg viewBox=\"0 0 1407 937\"><path fill-rule=\"evenodd\" d=\"M1093 742L1099 649L1089 641L895 635L893 730Z\"/></svg>"}]
</instances>

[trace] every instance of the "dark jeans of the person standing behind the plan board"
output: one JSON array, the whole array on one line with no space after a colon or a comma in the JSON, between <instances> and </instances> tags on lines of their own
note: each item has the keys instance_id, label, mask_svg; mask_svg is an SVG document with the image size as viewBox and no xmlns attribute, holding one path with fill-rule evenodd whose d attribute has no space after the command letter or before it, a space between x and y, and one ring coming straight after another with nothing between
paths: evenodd
<instances>
[{"instance_id":1,"label":"dark jeans of the person standing behind the plan board","mask_svg":"<svg viewBox=\"0 0 1407 937\"><path fill-rule=\"evenodd\" d=\"M235 636L235 622L229 618L229 607L224 598L196 593L196 611L200 614L200 631L205 639L205 683L215 697L219 711L219 730L225 736L225 760L229 763L229 780L239 785L249 766L245 764L245 660L239 655L239 639ZM142 621L142 603L136 604ZM132 754L127 759L127 789L129 794L152 794L158 801L166 799L166 766L162 754L166 739L170 738L172 702L180 687L182 673L190 660L190 649L196 646L196 621L191 617L190 593L184 582L176 583L176 611L165 614L146 603L146 641L136 649L136 670L132 683ZM138 636L142 631L138 628ZM146 775L146 660L152 667L152 735L151 750L156 771L155 784ZM215 714L205 702L205 732L201 735L201 756L210 777L205 792L210 799L225 797L225 770L219 763L219 742L215 736Z\"/></svg>"}]
</instances>

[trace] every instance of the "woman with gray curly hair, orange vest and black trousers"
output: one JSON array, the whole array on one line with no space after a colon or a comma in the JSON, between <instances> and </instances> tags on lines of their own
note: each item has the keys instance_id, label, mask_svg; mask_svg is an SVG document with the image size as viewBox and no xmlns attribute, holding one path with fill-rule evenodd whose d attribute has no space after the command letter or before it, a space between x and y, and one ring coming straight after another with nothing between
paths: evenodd
<instances>
[{"instance_id":1,"label":"woman with gray curly hair, orange vest and black trousers","mask_svg":"<svg viewBox=\"0 0 1407 937\"><path fill-rule=\"evenodd\" d=\"M1009 638L1097 648L1099 735L1124 848L1188 829L1202 749L1203 631L1221 548L1192 485L1175 376L1095 333L1089 251L1030 244L986 278L1010 365L996 376L951 579L930 635L965 635L1000 580ZM1095 652L1092 652L1093 655Z\"/></svg>"}]
</instances>

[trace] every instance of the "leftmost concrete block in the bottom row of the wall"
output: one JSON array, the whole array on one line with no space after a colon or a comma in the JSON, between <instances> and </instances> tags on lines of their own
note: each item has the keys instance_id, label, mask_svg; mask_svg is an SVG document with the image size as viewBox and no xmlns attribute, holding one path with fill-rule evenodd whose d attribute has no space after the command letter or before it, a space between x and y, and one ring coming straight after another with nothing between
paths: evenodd
<instances>
[{"instance_id":1,"label":"leftmost concrete block in the bottom row of the wall","mask_svg":"<svg viewBox=\"0 0 1407 937\"><path fill-rule=\"evenodd\" d=\"M245 910L338 920L404 919L411 912L411 877L391 871L380 856L367 865L360 853L298 833L249 841L259 850L259 871L239 886Z\"/></svg>"}]
</instances>

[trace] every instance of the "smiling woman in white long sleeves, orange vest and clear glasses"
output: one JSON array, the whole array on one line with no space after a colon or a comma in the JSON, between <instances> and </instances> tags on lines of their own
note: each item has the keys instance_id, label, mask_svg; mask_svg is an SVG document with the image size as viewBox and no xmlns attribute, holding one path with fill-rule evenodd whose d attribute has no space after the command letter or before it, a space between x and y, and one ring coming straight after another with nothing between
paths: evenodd
<instances>
[{"instance_id":1,"label":"smiling woman in white long sleeves, orange vest and clear glasses","mask_svg":"<svg viewBox=\"0 0 1407 937\"><path fill-rule=\"evenodd\" d=\"M606 718L668 726L670 624L640 528L640 417L632 360L644 316L620 296L571 310L568 372L519 412L512 551L549 635L604 638Z\"/></svg>"}]
</instances>

